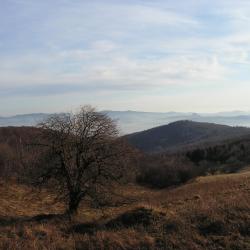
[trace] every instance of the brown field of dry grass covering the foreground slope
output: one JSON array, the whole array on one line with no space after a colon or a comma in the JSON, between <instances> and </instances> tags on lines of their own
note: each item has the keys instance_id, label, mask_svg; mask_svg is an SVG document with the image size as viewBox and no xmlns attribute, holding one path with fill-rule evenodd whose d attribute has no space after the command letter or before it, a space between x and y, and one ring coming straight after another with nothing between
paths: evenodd
<instances>
[{"instance_id":1,"label":"brown field of dry grass covering the foreground slope","mask_svg":"<svg viewBox=\"0 0 250 250\"><path fill-rule=\"evenodd\" d=\"M48 191L0 182L0 249L250 249L248 171L172 189L119 189L127 203L83 204L68 222L53 216L64 206Z\"/></svg>"}]
</instances>

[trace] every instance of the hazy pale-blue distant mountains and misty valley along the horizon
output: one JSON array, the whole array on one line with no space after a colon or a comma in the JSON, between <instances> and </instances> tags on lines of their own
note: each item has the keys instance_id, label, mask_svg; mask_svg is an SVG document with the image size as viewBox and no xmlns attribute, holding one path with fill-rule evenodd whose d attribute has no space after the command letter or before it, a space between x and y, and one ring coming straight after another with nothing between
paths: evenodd
<instances>
[{"instance_id":1,"label":"hazy pale-blue distant mountains and misty valley along the horizon","mask_svg":"<svg viewBox=\"0 0 250 250\"><path fill-rule=\"evenodd\" d=\"M166 125L180 120L191 120L196 122L217 123L229 126L249 126L250 112L231 111L214 114L184 113L184 112L142 112L142 111L102 111L111 118L117 120L121 134L130 134L147 130L153 127ZM33 113L15 115L10 117L0 116L0 126L35 126L52 114Z\"/></svg>"}]
</instances>

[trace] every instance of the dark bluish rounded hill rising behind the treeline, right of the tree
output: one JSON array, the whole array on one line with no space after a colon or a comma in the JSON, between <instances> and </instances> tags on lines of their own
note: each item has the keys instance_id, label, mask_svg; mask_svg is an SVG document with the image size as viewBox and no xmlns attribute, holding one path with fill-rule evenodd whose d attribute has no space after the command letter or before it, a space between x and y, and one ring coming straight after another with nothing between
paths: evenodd
<instances>
[{"instance_id":1,"label":"dark bluish rounded hill rising behind the treeline, right of the tree","mask_svg":"<svg viewBox=\"0 0 250 250\"><path fill-rule=\"evenodd\" d=\"M161 152L182 146L217 142L250 134L250 128L230 127L213 123L177 121L127 135L130 144L145 152Z\"/></svg>"}]
</instances>

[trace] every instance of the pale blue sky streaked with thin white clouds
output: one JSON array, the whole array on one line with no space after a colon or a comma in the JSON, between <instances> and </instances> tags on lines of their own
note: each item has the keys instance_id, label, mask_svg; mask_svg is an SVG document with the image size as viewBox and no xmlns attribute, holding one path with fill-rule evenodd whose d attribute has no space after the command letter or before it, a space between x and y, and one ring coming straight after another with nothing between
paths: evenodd
<instances>
[{"instance_id":1,"label":"pale blue sky streaked with thin white clouds","mask_svg":"<svg viewBox=\"0 0 250 250\"><path fill-rule=\"evenodd\" d=\"M0 0L0 116L250 110L249 0Z\"/></svg>"}]
</instances>

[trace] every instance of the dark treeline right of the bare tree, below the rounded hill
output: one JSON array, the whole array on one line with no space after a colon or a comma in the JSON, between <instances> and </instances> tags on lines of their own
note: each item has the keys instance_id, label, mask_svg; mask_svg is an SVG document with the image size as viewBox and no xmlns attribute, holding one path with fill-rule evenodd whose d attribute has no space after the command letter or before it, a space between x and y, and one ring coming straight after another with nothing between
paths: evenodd
<instances>
[{"instance_id":1,"label":"dark treeline right of the bare tree, below the rounded hill","mask_svg":"<svg viewBox=\"0 0 250 250\"><path fill-rule=\"evenodd\" d=\"M144 155L137 181L165 188L183 184L197 176L234 173L250 164L250 139L231 140L181 153Z\"/></svg>"}]
</instances>

